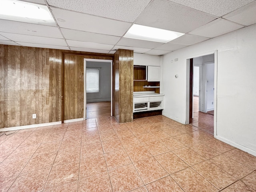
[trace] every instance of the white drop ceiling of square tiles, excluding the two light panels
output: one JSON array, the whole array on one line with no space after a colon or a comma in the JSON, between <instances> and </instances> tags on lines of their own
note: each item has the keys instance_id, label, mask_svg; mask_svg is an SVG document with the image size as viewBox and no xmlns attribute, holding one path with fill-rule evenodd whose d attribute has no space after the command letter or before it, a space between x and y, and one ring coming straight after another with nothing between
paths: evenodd
<instances>
[{"instance_id":1,"label":"white drop ceiling of square tiles, excluding the two light panels","mask_svg":"<svg viewBox=\"0 0 256 192\"><path fill-rule=\"evenodd\" d=\"M256 23L256 0L26 2L47 6L55 23L36 24L0 16L0 44L110 54L128 49L163 55ZM132 24L185 34L167 43L124 38Z\"/></svg>"}]
</instances>

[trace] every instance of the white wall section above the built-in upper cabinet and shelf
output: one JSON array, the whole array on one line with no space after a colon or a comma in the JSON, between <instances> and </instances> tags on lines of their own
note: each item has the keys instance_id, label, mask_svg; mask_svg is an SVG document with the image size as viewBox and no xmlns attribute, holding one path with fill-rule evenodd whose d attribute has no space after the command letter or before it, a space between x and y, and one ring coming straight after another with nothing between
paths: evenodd
<instances>
[{"instance_id":1,"label":"white wall section above the built-in upper cabinet and shelf","mask_svg":"<svg viewBox=\"0 0 256 192\"><path fill-rule=\"evenodd\" d=\"M133 64L143 66L160 66L160 56L134 53Z\"/></svg>"}]
</instances>

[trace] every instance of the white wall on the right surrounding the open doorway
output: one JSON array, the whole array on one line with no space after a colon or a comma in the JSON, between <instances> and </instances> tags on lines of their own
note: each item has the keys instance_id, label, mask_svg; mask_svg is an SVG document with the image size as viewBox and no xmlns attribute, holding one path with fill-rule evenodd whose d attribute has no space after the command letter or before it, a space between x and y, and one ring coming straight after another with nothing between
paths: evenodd
<instances>
[{"instance_id":1,"label":"white wall on the right surrounding the open doorway","mask_svg":"<svg viewBox=\"0 0 256 192\"><path fill-rule=\"evenodd\" d=\"M256 25L198 43L163 57L163 114L186 123L188 58L218 51L215 61L215 137L256 156ZM177 62L171 60L178 58ZM179 77L175 78L174 75ZM217 101L217 102L216 102Z\"/></svg>"}]
</instances>

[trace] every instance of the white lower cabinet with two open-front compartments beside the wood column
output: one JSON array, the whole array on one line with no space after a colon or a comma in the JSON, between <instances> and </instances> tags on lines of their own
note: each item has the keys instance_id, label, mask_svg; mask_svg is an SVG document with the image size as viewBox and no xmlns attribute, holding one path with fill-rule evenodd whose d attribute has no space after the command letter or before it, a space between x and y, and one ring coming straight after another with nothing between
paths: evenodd
<instances>
[{"instance_id":1,"label":"white lower cabinet with two open-front compartments beside the wood column","mask_svg":"<svg viewBox=\"0 0 256 192\"><path fill-rule=\"evenodd\" d=\"M163 96L133 98L133 112L163 109Z\"/></svg>"}]
</instances>

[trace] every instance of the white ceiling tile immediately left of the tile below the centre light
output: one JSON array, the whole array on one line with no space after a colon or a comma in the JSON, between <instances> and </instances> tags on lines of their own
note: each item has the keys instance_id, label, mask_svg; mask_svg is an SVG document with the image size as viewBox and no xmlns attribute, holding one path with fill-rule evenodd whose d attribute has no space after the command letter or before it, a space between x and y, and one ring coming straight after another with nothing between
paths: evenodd
<instances>
[{"instance_id":1,"label":"white ceiling tile immediately left of the tile below the centre light","mask_svg":"<svg viewBox=\"0 0 256 192\"><path fill-rule=\"evenodd\" d=\"M61 28L61 31L65 39L69 40L95 42L112 45L116 44L118 40L120 40L120 37L118 36L104 35L92 32L84 32L65 28Z\"/></svg>"}]
</instances>

